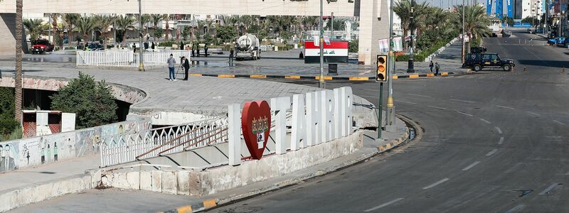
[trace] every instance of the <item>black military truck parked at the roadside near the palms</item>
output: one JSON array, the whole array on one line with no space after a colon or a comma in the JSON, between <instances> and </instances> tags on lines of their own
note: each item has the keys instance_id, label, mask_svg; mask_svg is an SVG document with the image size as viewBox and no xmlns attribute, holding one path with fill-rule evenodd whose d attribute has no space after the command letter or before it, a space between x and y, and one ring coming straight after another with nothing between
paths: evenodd
<instances>
[{"instance_id":1,"label":"black military truck parked at the roadside near the palms","mask_svg":"<svg viewBox=\"0 0 569 213\"><path fill-rule=\"evenodd\" d=\"M504 71L510 71L515 67L514 60L500 58L497 53L469 53L462 67L470 68L476 72L486 67L499 67Z\"/></svg>"}]
</instances>

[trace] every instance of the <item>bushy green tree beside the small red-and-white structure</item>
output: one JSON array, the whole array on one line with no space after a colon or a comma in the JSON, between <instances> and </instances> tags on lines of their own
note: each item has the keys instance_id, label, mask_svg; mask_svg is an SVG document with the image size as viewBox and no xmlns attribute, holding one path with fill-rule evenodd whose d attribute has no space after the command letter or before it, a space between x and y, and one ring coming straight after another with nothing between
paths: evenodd
<instances>
[{"instance_id":1,"label":"bushy green tree beside the small red-and-white structure","mask_svg":"<svg viewBox=\"0 0 569 213\"><path fill-rule=\"evenodd\" d=\"M70 80L58 93L50 96L51 109L76 114L77 129L112 124L117 121L117 104L112 88L95 78L79 72L77 79Z\"/></svg>"}]
</instances>

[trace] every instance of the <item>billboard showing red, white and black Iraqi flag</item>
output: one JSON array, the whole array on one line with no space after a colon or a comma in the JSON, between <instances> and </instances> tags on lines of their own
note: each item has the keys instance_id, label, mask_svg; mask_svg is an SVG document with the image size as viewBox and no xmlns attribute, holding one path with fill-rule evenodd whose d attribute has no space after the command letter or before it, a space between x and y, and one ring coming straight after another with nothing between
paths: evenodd
<instances>
[{"instance_id":1,"label":"billboard showing red, white and black Iraqi flag","mask_svg":"<svg viewBox=\"0 0 569 213\"><path fill-rule=\"evenodd\" d=\"M331 64L347 64L348 41L331 40L329 44L324 43L324 62ZM320 46L315 45L312 40L304 42L304 63L320 63Z\"/></svg>"}]
</instances>

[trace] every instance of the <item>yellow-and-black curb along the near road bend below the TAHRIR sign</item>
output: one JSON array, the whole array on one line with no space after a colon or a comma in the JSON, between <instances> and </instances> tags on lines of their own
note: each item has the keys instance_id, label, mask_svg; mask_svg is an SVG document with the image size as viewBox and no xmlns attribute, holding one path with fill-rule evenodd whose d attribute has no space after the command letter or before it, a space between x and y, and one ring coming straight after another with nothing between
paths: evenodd
<instances>
[{"instance_id":1,"label":"yellow-and-black curb along the near road bend below the TAHRIR sign","mask_svg":"<svg viewBox=\"0 0 569 213\"><path fill-rule=\"evenodd\" d=\"M366 160L368 160L369 158L372 158L375 155L381 154L385 151L389 151L390 149L397 147L401 143L408 141L409 131L410 131L409 128L407 126L405 126L405 133L403 133L402 136L400 136L397 139L394 139L390 143L385 144L384 145L385 148L383 148L383 149L378 148L377 151L363 153L363 154L359 155L357 158L354 158L352 160L347 160L347 161L344 161L344 162L336 164L336 165L332 165L328 168L316 170L312 173L309 173L308 175L303 175L303 176L299 176L299 177L290 178L288 180L283 180L281 182L277 182L277 183L270 185L268 187L257 188L256 190L252 190L250 192L246 192L246 193L243 193L240 195L230 195L228 197L220 197L220 198L217 198L215 200L213 200L213 199L203 200L202 202L198 202L196 204L189 204L189 205L186 205L184 207L178 207L176 209L170 209L168 211L165 211L165 213L166 212L168 212L168 213L201 212L201 211L211 209L211 208L223 205L223 204L229 204L231 202L243 200L243 199L246 199L248 197L254 197L256 195L261 195L265 192L279 190L283 187L296 185L299 182L303 182L303 181L311 179L311 178L316 178L316 177L319 177L322 175L326 175L328 173L332 173L334 171L341 170L343 168L346 168L346 167L351 166L351 165L355 165L357 163L365 162ZM363 136L363 134L362 134L362 136ZM207 205L206 205L206 202L208 203Z\"/></svg>"}]
</instances>

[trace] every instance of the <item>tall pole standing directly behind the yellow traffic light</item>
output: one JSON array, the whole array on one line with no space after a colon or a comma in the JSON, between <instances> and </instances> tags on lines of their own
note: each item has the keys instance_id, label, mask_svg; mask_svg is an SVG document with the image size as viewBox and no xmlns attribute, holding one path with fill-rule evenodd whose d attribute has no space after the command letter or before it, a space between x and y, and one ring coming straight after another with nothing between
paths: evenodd
<instances>
[{"instance_id":1,"label":"tall pole standing directly behind the yellow traffic light","mask_svg":"<svg viewBox=\"0 0 569 213\"><path fill-rule=\"evenodd\" d=\"M412 0L413 1L413 0ZM381 1L380 1L381 2ZM378 3L381 4L381 3ZM389 7L389 69L388 72L388 82L387 82L387 121L385 122L385 131L395 131L395 105L393 104L393 73L395 72L395 56L393 54L393 0L390 0ZM413 8L411 9L413 10ZM381 84L381 89L383 90L383 84ZM382 110L382 109L379 109ZM381 121L378 124L381 126ZM381 128L379 129L381 131Z\"/></svg>"}]
</instances>

